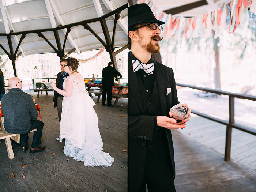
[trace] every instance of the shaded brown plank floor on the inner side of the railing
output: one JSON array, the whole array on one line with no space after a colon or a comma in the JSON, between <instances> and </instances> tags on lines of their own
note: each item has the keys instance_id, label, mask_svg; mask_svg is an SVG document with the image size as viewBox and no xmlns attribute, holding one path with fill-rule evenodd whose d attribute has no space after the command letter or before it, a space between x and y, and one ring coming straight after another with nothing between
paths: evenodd
<instances>
[{"instance_id":1,"label":"shaded brown plank floor on the inner side of the railing","mask_svg":"<svg viewBox=\"0 0 256 192\"><path fill-rule=\"evenodd\" d=\"M190 129L187 124L186 129ZM172 130L177 192L255 192L256 172Z\"/></svg>"}]
</instances>

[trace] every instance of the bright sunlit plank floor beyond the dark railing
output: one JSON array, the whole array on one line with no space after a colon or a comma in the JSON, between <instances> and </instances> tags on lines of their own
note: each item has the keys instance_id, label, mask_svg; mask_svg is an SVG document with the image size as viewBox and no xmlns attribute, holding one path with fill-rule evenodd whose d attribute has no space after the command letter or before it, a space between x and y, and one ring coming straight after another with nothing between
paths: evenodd
<instances>
[{"instance_id":1,"label":"bright sunlit plank floor beyond the dark railing","mask_svg":"<svg viewBox=\"0 0 256 192\"><path fill-rule=\"evenodd\" d=\"M192 114L186 129L181 134L211 148L217 153L225 153L226 126ZM256 136L232 129L231 160L256 171Z\"/></svg>"}]
</instances>

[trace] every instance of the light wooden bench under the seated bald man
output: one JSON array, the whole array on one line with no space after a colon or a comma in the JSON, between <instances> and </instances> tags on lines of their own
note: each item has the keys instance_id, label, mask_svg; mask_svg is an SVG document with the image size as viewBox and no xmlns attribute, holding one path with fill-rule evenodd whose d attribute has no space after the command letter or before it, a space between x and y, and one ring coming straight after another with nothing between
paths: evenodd
<instances>
[{"instance_id":1,"label":"light wooden bench under the seated bald man","mask_svg":"<svg viewBox=\"0 0 256 192\"><path fill-rule=\"evenodd\" d=\"M13 153L13 150L12 150L11 139L15 140L15 142L19 143L20 135L19 134L14 134L14 133L7 133L5 131L5 128L4 128L4 117L0 117L0 121L1 121L1 127L2 127L2 131L0 131L0 139L4 139L5 145L6 145L6 148L7 148L8 157L10 159L13 159L14 158L14 153ZM37 129L33 129L30 132L34 132L34 131L37 131Z\"/></svg>"}]
</instances>

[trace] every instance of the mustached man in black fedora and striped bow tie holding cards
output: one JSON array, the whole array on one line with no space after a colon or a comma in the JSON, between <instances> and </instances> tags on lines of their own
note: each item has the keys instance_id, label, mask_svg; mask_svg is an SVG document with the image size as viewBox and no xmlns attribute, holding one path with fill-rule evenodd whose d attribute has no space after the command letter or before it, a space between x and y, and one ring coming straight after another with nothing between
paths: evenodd
<instances>
[{"instance_id":1,"label":"mustached man in black fedora and striped bow tie holding cards","mask_svg":"<svg viewBox=\"0 0 256 192\"><path fill-rule=\"evenodd\" d=\"M147 4L128 7L128 191L175 191L170 129L185 128L170 108L178 103L173 70L152 59L162 24Z\"/></svg>"}]
</instances>

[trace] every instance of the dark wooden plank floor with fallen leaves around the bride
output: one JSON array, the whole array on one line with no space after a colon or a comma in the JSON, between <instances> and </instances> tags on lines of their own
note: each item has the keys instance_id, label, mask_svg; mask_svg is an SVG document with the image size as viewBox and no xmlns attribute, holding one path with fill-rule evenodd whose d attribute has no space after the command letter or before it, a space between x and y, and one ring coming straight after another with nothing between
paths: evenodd
<instances>
[{"instance_id":1,"label":"dark wooden plank floor with fallen leaves around the bride","mask_svg":"<svg viewBox=\"0 0 256 192\"><path fill-rule=\"evenodd\" d=\"M64 155L65 142L55 139L59 134L60 123L57 108L53 108L52 104L53 93L49 92L48 96L43 93L37 98L37 93L31 91L31 95L41 108L44 122L41 146L46 149L30 154L29 150L22 152L20 146L14 144L15 158L9 159L2 140L0 191L127 191L127 151L123 151L127 149L127 99L119 99L113 108L102 107L100 102L94 106L98 114L103 151L115 159L112 166L103 168L85 167L83 162ZM96 101L97 97L93 99ZM29 133L29 147L32 139L33 134ZM27 166L21 168L24 164ZM14 178L10 177L11 173L14 173ZM22 173L26 178L18 177Z\"/></svg>"}]
</instances>

